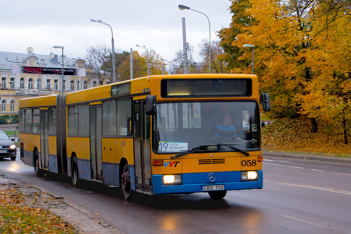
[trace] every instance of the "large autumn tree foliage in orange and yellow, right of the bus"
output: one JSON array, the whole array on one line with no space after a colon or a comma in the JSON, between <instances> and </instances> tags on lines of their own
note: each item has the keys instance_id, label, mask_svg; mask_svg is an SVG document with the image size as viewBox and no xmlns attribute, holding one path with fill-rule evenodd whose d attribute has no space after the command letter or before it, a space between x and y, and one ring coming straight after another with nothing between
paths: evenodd
<instances>
[{"instance_id":1,"label":"large autumn tree foliage in orange and yellow, right of the bus","mask_svg":"<svg viewBox=\"0 0 351 234\"><path fill-rule=\"evenodd\" d=\"M254 71L271 94L271 115L311 118L347 144L351 133L351 5L347 0L234 0L219 31L235 73Z\"/></svg>"}]
</instances>

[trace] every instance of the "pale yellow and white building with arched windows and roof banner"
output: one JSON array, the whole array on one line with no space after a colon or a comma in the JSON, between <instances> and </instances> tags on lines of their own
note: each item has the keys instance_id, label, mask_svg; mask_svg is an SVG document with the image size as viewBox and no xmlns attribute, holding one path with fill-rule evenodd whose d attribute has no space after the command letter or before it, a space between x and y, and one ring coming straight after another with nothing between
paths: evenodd
<instances>
[{"instance_id":1,"label":"pale yellow and white building with arched windows and roof banner","mask_svg":"<svg viewBox=\"0 0 351 234\"><path fill-rule=\"evenodd\" d=\"M98 85L87 76L85 63L64 56L64 93ZM62 93L61 71L62 55L0 51L0 115L17 114L21 98Z\"/></svg>"}]
</instances>

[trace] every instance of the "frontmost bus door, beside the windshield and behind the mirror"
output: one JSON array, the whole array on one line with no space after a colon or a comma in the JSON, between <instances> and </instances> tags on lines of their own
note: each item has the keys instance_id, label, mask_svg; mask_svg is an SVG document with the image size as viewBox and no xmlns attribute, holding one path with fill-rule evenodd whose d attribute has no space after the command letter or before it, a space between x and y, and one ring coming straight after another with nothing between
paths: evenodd
<instances>
[{"instance_id":1,"label":"frontmost bus door, beside the windshield and behind the mirror","mask_svg":"<svg viewBox=\"0 0 351 234\"><path fill-rule=\"evenodd\" d=\"M150 116L145 107L145 100L134 101L135 189L152 194Z\"/></svg>"}]
</instances>

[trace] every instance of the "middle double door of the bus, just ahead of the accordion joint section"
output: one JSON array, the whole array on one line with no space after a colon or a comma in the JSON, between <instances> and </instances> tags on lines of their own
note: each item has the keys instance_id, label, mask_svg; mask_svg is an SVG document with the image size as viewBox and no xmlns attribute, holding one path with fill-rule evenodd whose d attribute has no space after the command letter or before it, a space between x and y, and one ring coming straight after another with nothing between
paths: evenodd
<instances>
[{"instance_id":1,"label":"middle double door of the bus, just ahead of the accordion joint section","mask_svg":"<svg viewBox=\"0 0 351 234\"><path fill-rule=\"evenodd\" d=\"M102 182L101 105L90 106L91 178Z\"/></svg>"}]
</instances>

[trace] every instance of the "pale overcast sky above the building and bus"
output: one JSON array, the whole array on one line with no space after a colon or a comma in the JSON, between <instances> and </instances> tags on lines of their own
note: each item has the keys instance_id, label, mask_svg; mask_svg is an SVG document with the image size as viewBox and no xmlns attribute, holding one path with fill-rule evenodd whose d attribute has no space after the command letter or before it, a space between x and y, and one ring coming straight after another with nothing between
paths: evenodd
<instances>
[{"instance_id":1,"label":"pale overcast sky above the building and bus","mask_svg":"<svg viewBox=\"0 0 351 234\"><path fill-rule=\"evenodd\" d=\"M64 54L84 58L91 46L111 47L108 26L90 19L102 20L113 29L115 51L137 50L135 44L154 49L171 61L174 53L183 48L181 18L186 21L186 41L196 49L201 39L209 37L205 15L211 24L211 40L218 40L217 31L228 27L231 14L229 0L61 0L61 1L2 1L0 51L26 53L33 47L35 54L49 54L53 45L64 46ZM51 48L61 54L61 49Z\"/></svg>"}]
</instances>

